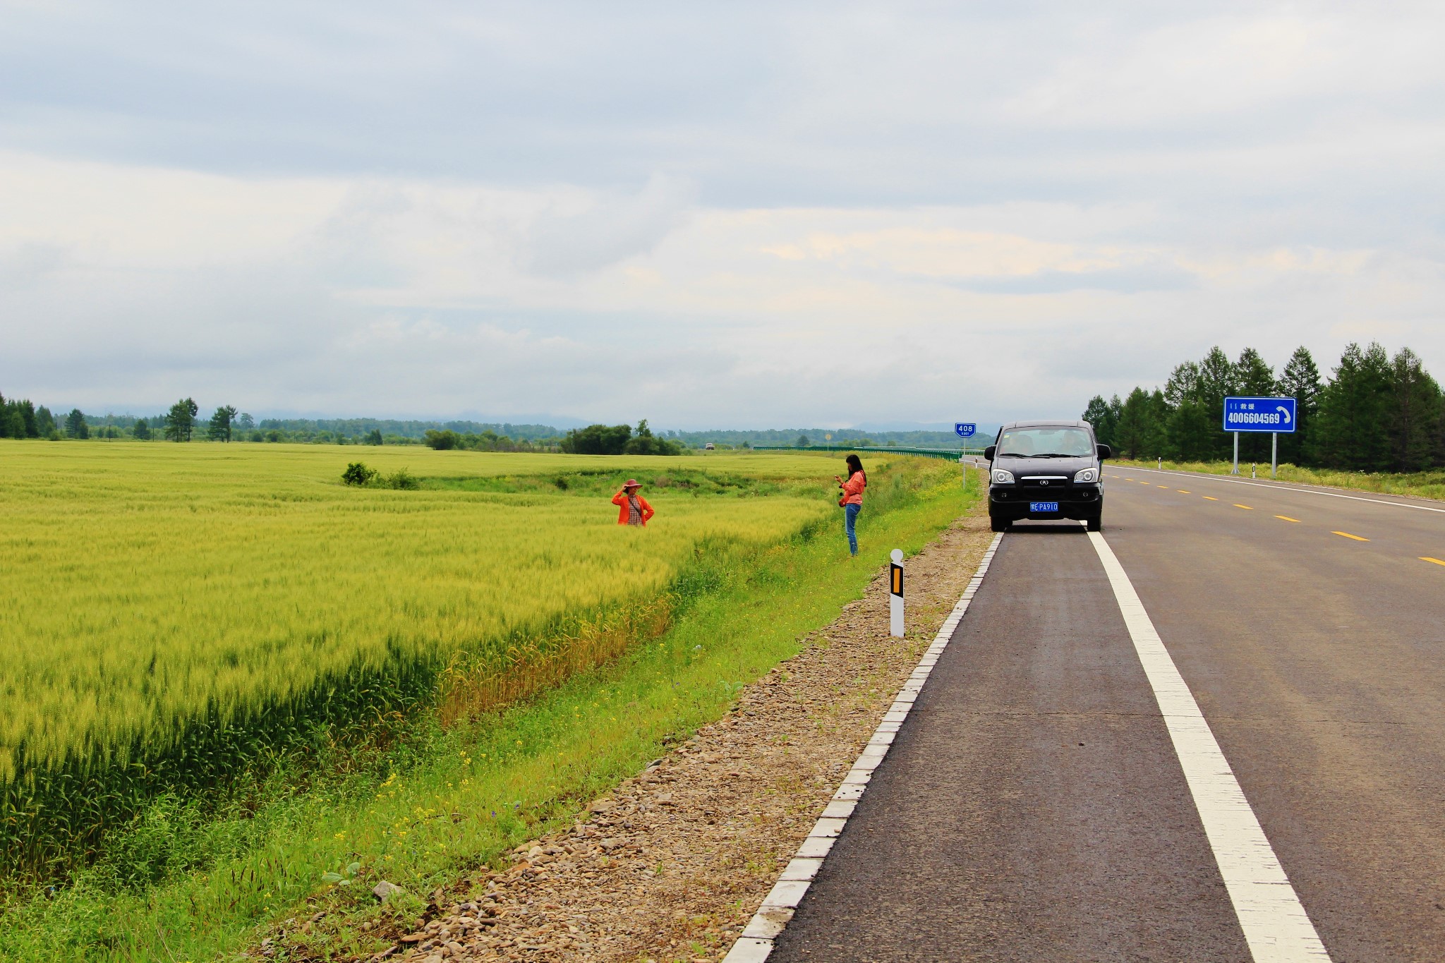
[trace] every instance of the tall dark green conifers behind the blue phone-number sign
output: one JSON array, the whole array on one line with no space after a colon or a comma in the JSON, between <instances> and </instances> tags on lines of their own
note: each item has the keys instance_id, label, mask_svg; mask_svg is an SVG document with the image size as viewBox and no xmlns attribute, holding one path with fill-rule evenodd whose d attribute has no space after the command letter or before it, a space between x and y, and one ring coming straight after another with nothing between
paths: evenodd
<instances>
[{"instance_id":1,"label":"tall dark green conifers behind the blue phone-number sign","mask_svg":"<svg viewBox=\"0 0 1445 963\"><path fill-rule=\"evenodd\" d=\"M1095 396L1084 410L1098 440L1131 459L1233 458L1224 398L1293 397L1296 430L1279 436L1279 459L1300 466L1361 472L1418 472L1445 465L1445 404L1420 357L1392 358L1379 342L1345 347L1329 377L1306 348L1274 372L1259 351L1234 361L1218 347L1175 367L1163 388L1136 387L1123 400ZM1240 435L1240 461L1267 462L1267 433Z\"/></svg>"}]
</instances>

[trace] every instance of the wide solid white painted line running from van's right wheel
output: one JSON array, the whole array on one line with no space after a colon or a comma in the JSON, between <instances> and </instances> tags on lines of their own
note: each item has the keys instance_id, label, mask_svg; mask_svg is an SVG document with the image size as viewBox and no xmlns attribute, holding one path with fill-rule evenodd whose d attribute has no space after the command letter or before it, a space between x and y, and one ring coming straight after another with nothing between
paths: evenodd
<instances>
[{"instance_id":1,"label":"wide solid white painted line running from van's right wheel","mask_svg":"<svg viewBox=\"0 0 1445 963\"><path fill-rule=\"evenodd\" d=\"M1134 641L1134 651L1155 690L1159 712L1169 728L1183 778L1189 784L1199 822L1209 839L1220 875L1234 904L1234 914L1244 930L1256 963L1293 963L1328 960L1329 954L1315 933L1305 907L1279 865L1274 849L1264 837L1244 790L1230 770L1209 723L1199 712L1189 686L1175 667L1155 624L1149 619L1129 575L1114 557L1114 550L1097 531L1088 533L1098 560L1104 563L1114 598L1124 615L1124 625Z\"/></svg>"}]
</instances>

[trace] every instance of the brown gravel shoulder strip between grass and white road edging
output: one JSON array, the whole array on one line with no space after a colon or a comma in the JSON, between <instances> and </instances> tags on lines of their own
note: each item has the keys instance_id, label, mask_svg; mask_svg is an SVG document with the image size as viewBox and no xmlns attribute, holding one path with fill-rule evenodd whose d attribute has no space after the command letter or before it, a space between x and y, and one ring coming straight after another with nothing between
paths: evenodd
<instances>
[{"instance_id":1,"label":"brown gravel shoulder strip between grass and white road edging","mask_svg":"<svg viewBox=\"0 0 1445 963\"><path fill-rule=\"evenodd\" d=\"M720 960L808 835L991 540L965 515L907 562L909 632L889 637L884 572L737 706L506 872L432 894L380 959Z\"/></svg>"}]
</instances>

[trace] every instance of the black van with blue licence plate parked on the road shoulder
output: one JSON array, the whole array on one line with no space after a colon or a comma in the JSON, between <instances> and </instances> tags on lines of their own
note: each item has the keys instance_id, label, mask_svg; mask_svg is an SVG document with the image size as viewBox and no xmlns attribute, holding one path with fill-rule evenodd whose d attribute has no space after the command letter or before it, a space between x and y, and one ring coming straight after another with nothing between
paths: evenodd
<instances>
[{"instance_id":1,"label":"black van with blue licence plate parked on the road shoulder","mask_svg":"<svg viewBox=\"0 0 1445 963\"><path fill-rule=\"evenodd\" d=\"M1007 531L1020 518L1077 518L1104 527L1103 461L1108 445L1088 422L1012 422L984 449L988 521Z\"/></svg>"}]
</instances>

